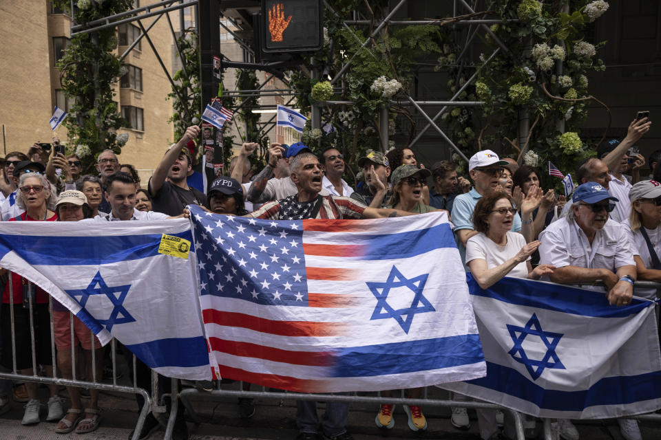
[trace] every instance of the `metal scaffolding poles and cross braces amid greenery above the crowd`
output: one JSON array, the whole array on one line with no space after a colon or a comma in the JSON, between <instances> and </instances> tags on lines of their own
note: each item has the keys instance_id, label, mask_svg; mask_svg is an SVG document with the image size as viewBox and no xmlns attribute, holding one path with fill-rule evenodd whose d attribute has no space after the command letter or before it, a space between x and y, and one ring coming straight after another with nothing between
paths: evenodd
<instances>
[{"instance_id":1,"label":"metal scaffolding poles and cross braces amid greenery above the crowd","mask_svg":"<svg viewBox=\"0 0 661 440\"><path fill-rule=\"evenodd\" d=\"M190 8L194 7L197 8L198 4L202 4L202 2L206 1L217 1L217 0L164 0L164 1L159 1L157 3L152 3L150 5L145 5L140 8L134 8L132 10L128 10L126 12L121 12L119 14L114 14L109 17L104 17L103 19L98 19L95 21L91 21L90 23L87 23L87 25L76 25L73 23L72 28L71 28L71 33L72 36L76 34L84 34L84 33L89 33L89 32L94 32L96 30L102 30L106 28L113 28L116 27L117 25L124 24L124 23L132 23L134 21L138 22L138 26L141 30L140 35L130 45L127 47L127 50L120 56L120 59L124 59L125 56L138 44L140 40L147 39L147 42L151 46L151 49L154 51L154 54L156 55L157 60L159 61L163 71L165 72L169 82L171 85L175 85L174 80L172 79L169 71L167 70L167 67L165 64L162 62L162 59L160 58L158 54L158 50L156 50L156 47L154 44L151 42L151 39L149 38L149 30L156 24L156 22L163 16L167 17L167 21L169 23L169 28L171 30L171 34L173 39L176 41L177 35L176 32L174 31L174 27L171 23L170 17L168 12L174 11L174 10L182 10L183 8ZM354 12L352 15L353 17L350 17L350 19L344 19L343 20L343 25L344 28L348 29L355 39L357 41L361 42L361 47L364 47L369 50L370 45L373 44L373 39L383 30L386 28L388 25L452 25L454 30L464 30L467 29L468 27L468 35L466 36L465 44L463 45L463 49L461 50L461 53L457 57L457 61L455 61L455 65L460 65L463 60L465 60L465 56L468 52L468 47L473 43L475 36L478 34L480 30L483 30L490 36L490 38L498 45L496 50L486 59L485 63L483 65L486 65L492 59L496 54L500 51L502 51L505 54L511 54L510 50L503 44L500 39L492 32L492 30L489 28L489 25L496 24L496 23L503 23L502 20L499 19L485 19L483 16L487 15L487 12L480 13L476 12L475 8L479 4L479 0L474 0L473 5L470 5L467 3L465 0L445 0L447 3L452 2L452 12L453 12L453 17L450 17L448 19L438 19L438 20L433 20L433 19L428 19L428 20L413 20L413 21L403 21L403 20L394 20L392 17L395 17L395 14L404 6L406 3L408 3L408 0L397 0L395 5L392 6L386 17L380 21L370 21L367 19L364 19L363 17L359 17L359 14L357 12ZM222 3L221 7L222 7ZM328 4L328 1L324 0L324 7L326 10L328 10L330 13L335 14L336 17L339 17L339 14L333 10L333 8ZM224 17L225 19L228 19L231 21L231 23L236 27L240 28L240 25L231 19L231 17L227 17L224 15L224 10L220 11L220 17ZM463 16L465 17L462 17ZM155 17L154 21L149 23L147 27L143 24L143 20L149 18L149 17ZM459 18L457 18L459 17ZM182 19L180 20L181 22L183 21ZM198 23L196 23L197 25ZM365 25L373 25L375 26L375 29L373 32L371 32L370 36L365 40L362 41L362 39L358 36L358 34L353 30L352 26L365 26ZM253 60L254 52L251 47L251 41L249 39L244 39L240 35L240 33L235 32L231 29L229 29L224 23L218 23L219 29L220 27L224 28L227 32L233 35L234 41L238 43L243 49L243 63L246 63L244 68L262 68L264 65L260 65L258 63L251 63ZM185 65L185 61L180 55L180 59L182 61L182 70L185 74L185 76L188 77L188 70L187 66ZM218 54L221 55L222 54ZM353 63L353 58L350 58L344 65L342 66L341 69L339 69L339 72L333 76L333 78L330 79L331 84L335 84L338 81L342 80L344 77L344 74L348 71L350 66ZM202 63L202 65L204 62ZM239 65L242 65L242 63L235 63L232 62L234 66L232 67L238 67L240 68ZM483 67L483 65L481 67ZM310 66L311 67L311 76L313 78L319 78L320 72L317 66ZM464 155L464 153L457 147L454 142L452 142L452 139L450 136L448 136L447 133L441 129L441 127L437 124L437 120L441 118L443 113L448 111L451 107L475 107L475 106L480 106L484 104L483 101L462 101L459 100L459 96L461 96L462 92L471 84L474 83L476 78L479 75L480 68L476 69L476 72L470 76L470 78L457 90L453 96L449 100L415 100L410 94L406 93L401 93L397 98L399 100L390 100L388 102L388 107L384 109L383 113L381 113L381 120L385 120L386 123L380 124L380 134L381 134L381 140L382 140L382 145L386 146L388 144L388 109L390 107L402 107L402 106L407 106L407 107L413 107L417 113L419 113L424 120L426 120L427 124L424 126L414 137L414 139L408 144L408 147L413 146L417 142L419 142L422 138L423 135L429 130L429 129L434 129L445 142L448 143L448 145L456 152L462 159L464 159L466 162L468 162L468 157ZM204 67L202 67L204 68ZM273 77L273 74L269 76L269 78L262 83L257 89L254 90L233 90L233 91L226 91L225 93L227 96L231 96L233 98L261 98L261 97L266 97L266 96L293 96L294 91L290 88L281 88L281 89L264 89L264 86L269 83L269 80ZM202 76L200 76L202 78ZM173 89L176 91L177 89L173 87ZM177 94L179 94L178 91L176 91ZM183 97L179 94L180 100L183 100ZM245 101L244 101L245 103ZM249 111L249 109L242 109L244 107L244 103L240 104L237 108L235 108L235 112L242 113L242 111ZM320 107L325 106L325 105L351 105L353 102L348 102L348 101L326 101L326 102L315 102L312 106L312 126L313 128L321 128L321 118L320 118ZM430 115L427 113L425 110L426 107L439 107L442 106L437 113L434 115ZM264 106L267 107L267 106ZM187 115L187 119L191 119L190 115ZM273 119L273 118L271 118ZM266 122L259 122L262 124L262 131L264 131L264 128L271 124L271 120L266 121ZM236 124L236 123L235 123ZM236 126L236 125L235 125ZM238 126L236 126L236 129L238 130ZM525 130L523 130L525 129ZM523 133L523 131L525 133ZM521 135L526 135L527 134L527 126L520 127L519 130L521 133L519 133L519 137L521 138ZM522 134L523 133L523 134Z\"/></svg>"}]
</instances>

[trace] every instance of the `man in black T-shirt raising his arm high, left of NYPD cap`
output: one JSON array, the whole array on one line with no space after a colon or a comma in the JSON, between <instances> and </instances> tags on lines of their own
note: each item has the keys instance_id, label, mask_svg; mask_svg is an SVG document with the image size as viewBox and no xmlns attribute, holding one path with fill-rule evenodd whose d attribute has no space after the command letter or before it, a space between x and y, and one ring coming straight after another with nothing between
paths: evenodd
<instances>
[{"instance_id":1,"label":"man in black T-shirt raising his arm high, left of NYPD cap","mask_svg":"<svg viewBox=\"0 0 661 440\"><path fill-rule=\"evenodd\" d=\"M148 186L154 211L176 217L187 205L207 204L207 197L196 188L188 186L186 181L192 166L187 144L199 134L198 126L189 126L179 142L169 148L156 166Z\"/></svg>"}]
</instances>

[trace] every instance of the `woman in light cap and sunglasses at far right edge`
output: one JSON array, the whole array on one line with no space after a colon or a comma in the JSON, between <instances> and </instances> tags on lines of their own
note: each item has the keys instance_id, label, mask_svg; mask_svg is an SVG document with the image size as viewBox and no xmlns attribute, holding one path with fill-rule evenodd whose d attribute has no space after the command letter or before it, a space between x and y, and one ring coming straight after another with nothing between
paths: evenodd
<instances>
[{"instance_id":1,"label":"woman in light cap and sunglasses at far right edge","mask_svg":"<svg viewBox=\"0 0 661 440\"><path fill-rule=\"evenodd\" d=\"M642 180L629 190L631 214L627 225L638 280L661 282L661 183ZM636 295L655 299L656 289L636 289Z\"/></svg>"}]
</instances>

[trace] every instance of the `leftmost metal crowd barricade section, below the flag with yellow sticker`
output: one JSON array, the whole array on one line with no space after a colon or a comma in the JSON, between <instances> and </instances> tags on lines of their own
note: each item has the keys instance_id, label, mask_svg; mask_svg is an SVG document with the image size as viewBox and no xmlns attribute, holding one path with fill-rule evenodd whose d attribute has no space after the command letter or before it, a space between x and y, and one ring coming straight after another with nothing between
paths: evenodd
<instances>
[{"instance_id":1,"label":"leftmost metal crowd barricade section, below the flag with yellow sticker","mask_svg":"<svg viewBox=\"0 0 661 440\"><path fill-rule=\"evenodd\" d=\"M36 362L36 342L35 342L35 334L34 334L34 307L36 304L33 304L33 298L32 294L28 294L28 311L29 311L29 316L30 316L30 348L31 348L31 355L32 355L32 375L24 375L20 374L17 371L17 347L16 347L16 334L17 334L17 329L16 329L16 322L15 322L15 316L14 316L14 308L17 307L14 305L14 298L13 298L13 285L12 285L12 273L8 272L8 285L9 285L9 292L10 292L10 303L9 304L3 304L2 307L9 307L10 310L10 326L11 326L11 335L12 335L12 371L11 373L3 373L0 371L0 379L6 379L6 380L16 380L16 381L21 381L21 382L36 382L40 384L54 384L54 385L62 385L62 386L75 386L79 388L93 388L97 389L99 391L116 391L119 393L129 393L129 394L140 394L144 397L145 399L145 404L143 404L143 407L140 408L140 414L138 415L138 421L136 423L136 428L134 431L133 435L133 440L137 440L140 431L143 428L143 425L145 423L145 419L147 418L147 414L149 411L154 412L155 415L158 412L165 412L165 406L159 406L156 404L158 402L158 381L156 380L156 373L152 371L152 382L154 386L152 386L151 389L151 395L145 390L145 388L140 388L137 386L137 375L136 375L136 356L133 355L133 386L123 386L123 385L118 385L117 384L117 362L116 362L116 342L113 339L111 344L110 344L110 349L112 350L111 353L111 360L112 360L112 384L104 384L101 383L101 380L103 380L103 371L98 372L96 371L96 350L94 349L94 332L90 330L91 337L92 337L92 380L90 382L90 378L88 377L87 380L78 380L76 379L76 346L74 345L74 317L72 314L70 314L70 331L71 331L71 342L72 342L72 350L71 350L71 362L72 362L72 377L71 379L65 379L63 377L58 377L57 375L57 359L56 359L56 350L55 350L55 336L54 336L54 320L53 320L53 314L52 314L52 297L48 296L48 311L50 314L50 336L51 336L51 347L50 347L50 353L51 353L51 360L52 360L52 366L53 366L53 374L52 377L45 377L45 376L40 376L38 375L39 372L39 365ZM32 283L28 283L28 292L32 291ZM36 298L36 297L35 297ZM23 329L24 331L25 329ZM9 347L2 347L3 350L7 350ZM98 378L98 374L101 374L101 378ZM174 406L176 410L176 406ZM176 412L175 412L176 413Z\"/></svg>"}]
</instances>

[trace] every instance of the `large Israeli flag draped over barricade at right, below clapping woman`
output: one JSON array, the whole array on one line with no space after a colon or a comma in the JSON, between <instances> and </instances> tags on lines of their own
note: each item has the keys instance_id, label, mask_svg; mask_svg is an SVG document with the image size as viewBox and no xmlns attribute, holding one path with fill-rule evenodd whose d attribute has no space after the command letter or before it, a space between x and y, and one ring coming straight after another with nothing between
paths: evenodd
<instances>
[{"instance_id":1,"label":"large Israeli flag draped over barricade at right, below clapping woman","mask_svg":"<svg viewBox=\"0 0 661 440\"><path fill-rule=\"evenodd\" d=\"M661 408L655 303L505 277L468 285L487 375L442 387L536 417L603 419Z\"/></svg>"}]
</instances>

